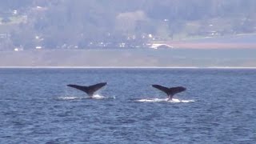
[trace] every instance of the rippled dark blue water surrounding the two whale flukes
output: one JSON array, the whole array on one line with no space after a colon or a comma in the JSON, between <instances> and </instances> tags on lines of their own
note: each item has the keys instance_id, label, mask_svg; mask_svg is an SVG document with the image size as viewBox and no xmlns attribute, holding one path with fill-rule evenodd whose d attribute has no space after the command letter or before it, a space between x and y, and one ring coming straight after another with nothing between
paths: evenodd
<instances>
[{"instance_id":1,"label":"rippled dark blue water surrounding the two whale flukes","mask_svg":"<svg viewBox=\"0 0 256 144\"><path fill-rule=\"evenodd\" d=\"M98 82L100 99L66 86ZM187 90L166 102L151 84ZM0 128L0 143L255 143L256 70L0 69Z\"/></svg>"}]
</instances>

